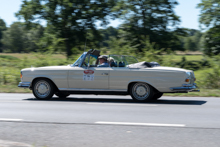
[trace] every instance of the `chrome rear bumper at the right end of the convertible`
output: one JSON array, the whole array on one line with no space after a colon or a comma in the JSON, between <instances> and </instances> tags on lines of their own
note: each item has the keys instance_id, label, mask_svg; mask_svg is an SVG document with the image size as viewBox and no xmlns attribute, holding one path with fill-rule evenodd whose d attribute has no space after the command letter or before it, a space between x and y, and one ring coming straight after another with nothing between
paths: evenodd
<instances>
[{"instance_id":1,"label":"chrome rear bumper at the right end of the convertible","mask_svg":"<svg viewBox=\"0 0 220 147\"><path fill-rule=\"evenodd\" d=\"M194 84L183 84L182 87L172 87L170 88L173 92L200 92L199 89L196 89L196 83Z\"/></svg>"}]
</instances>

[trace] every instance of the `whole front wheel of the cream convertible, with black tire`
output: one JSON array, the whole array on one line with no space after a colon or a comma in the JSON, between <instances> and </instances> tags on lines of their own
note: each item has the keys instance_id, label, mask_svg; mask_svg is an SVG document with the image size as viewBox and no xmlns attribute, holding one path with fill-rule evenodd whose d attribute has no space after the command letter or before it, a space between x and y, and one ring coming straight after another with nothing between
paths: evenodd
<instances>
[{"instance_id":1,"label":"whole front wheel of the cream convertible, with black tire","mask_svg":"<svg viewBox=\"0 0 220 147\"><path fill-rule=\"evenodd\" d=\"M54 84L47 79L37 79L33 83L32 92L39 100L49 100L55 92Z\"/></svg>"}]
</instances>

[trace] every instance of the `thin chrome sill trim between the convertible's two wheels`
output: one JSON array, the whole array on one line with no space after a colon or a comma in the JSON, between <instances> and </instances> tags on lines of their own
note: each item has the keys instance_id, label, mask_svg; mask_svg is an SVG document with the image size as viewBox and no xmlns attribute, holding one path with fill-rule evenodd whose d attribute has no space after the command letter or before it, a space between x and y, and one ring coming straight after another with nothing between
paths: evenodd
<instances>
[{"instance_id":1,"label":"thin chrome sill trim between the convertible's two wheels","mask_svg":"<svg viewBox=\"0 0 220 147\"><path fill-rule=\"evenodd\" d=\"M85 88L59 88L60 91L118 91L127 92L127 89L85 89Z\"/></svg>"}]
</instances>

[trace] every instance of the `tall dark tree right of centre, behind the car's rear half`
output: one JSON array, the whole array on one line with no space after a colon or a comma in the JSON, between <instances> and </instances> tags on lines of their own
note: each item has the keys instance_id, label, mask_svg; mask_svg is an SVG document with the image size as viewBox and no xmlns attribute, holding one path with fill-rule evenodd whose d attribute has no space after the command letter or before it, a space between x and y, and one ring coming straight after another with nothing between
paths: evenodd
<instances>
[{"instance_id":1,"label":"tall dark tree right of centre, behind the car's rear half","mask_svg":"<svg viewBox=\"0 0 220 147\"><path fill-rule=\"evenodd\" d=\"M115 11L124 16L125 23L120 27L127 32L124 37L133 40L133 45L138 44L140 52L144 48L141 42L148 37L150 42L155 42L159 48L180 48L180 41L175 34L178 29L174 29L180 21L173 10L177 4L175 0L120 1ZM168 26L173 27L173 30Z\"/></svg>"}]
</instances>

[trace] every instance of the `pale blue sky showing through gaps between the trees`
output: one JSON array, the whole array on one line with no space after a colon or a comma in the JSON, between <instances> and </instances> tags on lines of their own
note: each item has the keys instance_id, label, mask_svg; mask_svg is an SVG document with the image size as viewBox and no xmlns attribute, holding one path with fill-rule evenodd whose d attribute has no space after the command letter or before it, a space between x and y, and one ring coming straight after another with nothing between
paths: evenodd
<instances>
[{"instance_id":1,"label":"pale blue sky showing through gaps between the trees","mask_svg":"<svg viewBox=\"0 0 220 147\"><path fill-rule=\"evenodd\" d=\"M180 16L180 27L199 30L200 10L196 8L201 0L177 0L179 5L174 9L176 15ZM0 0L0 18L9 27L13 22L18 21L15 13L19 11L22 0ZM117 27L121 21L111 21L109 26Z\"/></svg>"}]
</instances>

